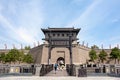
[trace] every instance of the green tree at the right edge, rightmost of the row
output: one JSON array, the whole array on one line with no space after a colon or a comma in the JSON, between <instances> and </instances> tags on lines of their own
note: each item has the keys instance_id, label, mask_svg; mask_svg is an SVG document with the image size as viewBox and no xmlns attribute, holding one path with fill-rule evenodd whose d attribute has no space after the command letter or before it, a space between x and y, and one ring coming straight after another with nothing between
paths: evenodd
<instances>
[{"instance_id":1,"label":"green tree at the right edge, rightmost of the row","mask_svg":"<svg viewBox=\"0 0 120 80\"><path fill-rule=\"evenodd\" d=\"M117 62L117 59L119 60L119 58L120 58L120 50L117 47L112 49L112 51L110 53L110 58L115 60L115 64Z\"/></svg>"}]
</instances>

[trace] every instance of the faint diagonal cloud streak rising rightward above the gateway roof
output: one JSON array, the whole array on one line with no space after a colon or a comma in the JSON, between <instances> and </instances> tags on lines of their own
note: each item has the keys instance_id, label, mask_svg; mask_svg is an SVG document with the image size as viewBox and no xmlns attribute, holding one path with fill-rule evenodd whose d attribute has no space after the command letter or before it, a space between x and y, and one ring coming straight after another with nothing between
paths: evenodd
<instances>
[{"instance_id":1,"label":"faint diagonal cloud streak rising rightward above the gateway roof","mask_svg":"<svg viewBox=\"0 0 120 80\"><path fill-rule=\"evenodd\" d=\"M96 8L96 6L101 3L101 1L102 0L95 0L77 19L75 19L72 23L68 24L67 26L77 25L84 27L85 30L91 28L92 26L86 26L90 23L88 22L88 17L90 16L91 12Z\"/></svg>"}]
</instances>

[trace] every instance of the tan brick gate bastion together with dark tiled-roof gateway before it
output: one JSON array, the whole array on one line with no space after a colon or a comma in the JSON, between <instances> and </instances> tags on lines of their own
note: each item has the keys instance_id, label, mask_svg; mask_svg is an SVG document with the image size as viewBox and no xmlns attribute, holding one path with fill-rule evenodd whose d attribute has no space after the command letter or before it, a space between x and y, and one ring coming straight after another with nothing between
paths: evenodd
<instances>
[{"instance_id":1,"label":"tan brick gate bastion together with dark tiled-roof gateway before it","mask_svg":"<svg viewBox=\"0 0 120 80\"><path fill-rule=\"evenodd\" d=\"M48 28L41 29L45 35L44 44L30 50L34 63L54 64L63 59L64 64L83 64L88 58L89 49L77 42L80 29Z\"/></svg>"}]
</instances>

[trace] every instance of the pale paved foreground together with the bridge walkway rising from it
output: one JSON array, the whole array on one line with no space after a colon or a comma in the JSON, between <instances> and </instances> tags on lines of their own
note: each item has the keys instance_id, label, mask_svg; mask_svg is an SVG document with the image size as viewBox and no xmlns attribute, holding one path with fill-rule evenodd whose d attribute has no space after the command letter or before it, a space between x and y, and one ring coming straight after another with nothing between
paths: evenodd
<instances>
[{"instance_id":1,"label":"pale paved foreground together with the bridge walkway rising from it","mask_svg":"<svg viewBox=\"0 0 120 80\"><path fill-rule=\"evenodd\" d=\"M88 76L88 77L75 77L68 76L66 70L51 71L45 76L1 76L0 80L120 80L120 77L109 76Z\"/></svg>"}]
</instances>

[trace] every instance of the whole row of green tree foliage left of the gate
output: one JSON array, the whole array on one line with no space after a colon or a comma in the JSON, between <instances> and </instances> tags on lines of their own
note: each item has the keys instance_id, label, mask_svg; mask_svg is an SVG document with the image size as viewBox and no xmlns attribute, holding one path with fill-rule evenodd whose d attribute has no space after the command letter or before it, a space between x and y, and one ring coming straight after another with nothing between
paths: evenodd
<instances>
[{"instance_id":1,"label":"whole row of green tree foliage left of the gate","mask_svg":"<svg viewBox=\"0 0 120 80\"><path fill-rule=\"evenodd\" d=\"M19 51L17 49L11 49L6 55L5 54L0 54L0 62L5 62L5 63L32 63L33 58L30 54L25 55L24 51Z\"/></svg>"}]
</instances>

